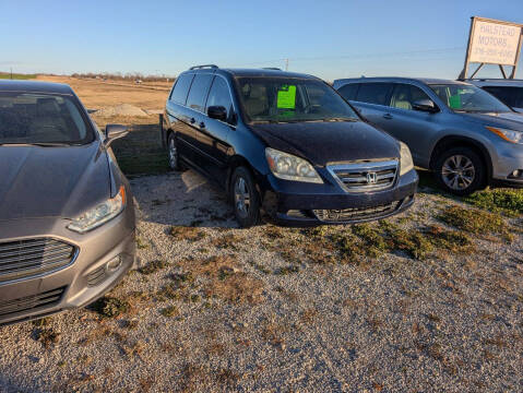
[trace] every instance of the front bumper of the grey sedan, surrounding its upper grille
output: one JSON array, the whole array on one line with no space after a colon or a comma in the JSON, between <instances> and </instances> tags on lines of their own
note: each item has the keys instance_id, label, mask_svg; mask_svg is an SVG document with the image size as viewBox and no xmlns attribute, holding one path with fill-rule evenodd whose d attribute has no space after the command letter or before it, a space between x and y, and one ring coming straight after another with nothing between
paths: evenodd
<instances>
[{"instance_id":1,"label":"front bumper of the grey sedan, surrounding its upper grille","mask_svg":"<svg viewBox=\"0 0 523 393\"><path fill-rule=\"evenodd\" d=\"M1 223L1 242L51 238L73 246L76 253L69 265L57 271L0 281L0 325L86 306L117 285L133 266L132 203L118 217L83 235L67 229L69 223L62 218Z\"/></svg>"}]
</instances>

